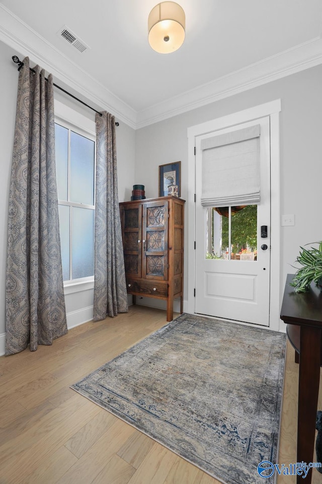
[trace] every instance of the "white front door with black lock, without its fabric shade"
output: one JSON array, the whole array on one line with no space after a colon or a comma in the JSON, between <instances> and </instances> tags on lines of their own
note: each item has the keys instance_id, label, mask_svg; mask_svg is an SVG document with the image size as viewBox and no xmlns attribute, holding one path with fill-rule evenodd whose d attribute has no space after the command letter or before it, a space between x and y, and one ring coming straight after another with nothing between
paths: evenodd
<instances>
[{"instance_id":1,"label":"white front door with black lock, without its fabric shade","mask_svg":"<svg viewBox=\"0 0 322 484\"><path fill-rule=\"evenodd\" d=\"M200 203L201 141L258 124L260 124L261 133L260 203L248 206L202 207ZM195 207L195 312L269 326L271 220L269 116L196 137ZM265 226L267 226L267 237L262 233Z\"/></svg>"}]
</instances>

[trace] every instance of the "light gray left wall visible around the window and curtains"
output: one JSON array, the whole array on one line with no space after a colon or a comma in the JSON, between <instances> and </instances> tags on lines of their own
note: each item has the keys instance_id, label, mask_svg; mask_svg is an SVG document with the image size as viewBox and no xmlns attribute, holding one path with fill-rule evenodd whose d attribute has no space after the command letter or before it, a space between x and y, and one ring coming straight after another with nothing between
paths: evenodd
<instances>
[{"instance_id":1,"label":"light gray left wall visible around the window and curtains","mask_svg":"<svg viewBox=\"0 0 322 484\"><path fill-rule=\"evenodd\" d=\"M0 67L2 70L0 89L0 146L1 146L1 177L0 177L0 204L3 207L0 213L0 354L5 351L5 280L7 256L8 231L8 200L12 165L12 151L15 129L15 115L17 102L18 72L17 66L12 62L12 55L24 57L3 42L0 42ZM31 59L32 65L32 59ZM57 82L59 85L59 83ZM66 86L62 86L68 89ZM75 93L74 93L75 94ZM95 119L95 112L82 106L77 101L54 89L55 99L66 103L69 107L81 112L90 119ZM90 101L87 101L91 105ZM98 106L93 106L98 108ZM113 114L113 113L112 113ZM135 131L125 125L119 124L116 128L118 190L120 202L130 200L134 181L135 167ZM68 327L73 327L93 317L93 289L78 292L65 291L66 313Z\"/></svg>"}]
</instances>

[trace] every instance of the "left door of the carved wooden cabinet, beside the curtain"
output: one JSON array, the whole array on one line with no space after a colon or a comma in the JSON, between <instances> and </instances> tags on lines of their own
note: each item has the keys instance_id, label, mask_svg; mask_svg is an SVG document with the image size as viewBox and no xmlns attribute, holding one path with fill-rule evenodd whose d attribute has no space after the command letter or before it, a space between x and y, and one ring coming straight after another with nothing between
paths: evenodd
<instances>
[{"instance_id":1,"label":"left door of the carved wooden cabinet, beside the curtain","mask_svg":"<svg viewBox=\"0 0 322 484\"><path fill-rule=\"evenodd\" d=\"M142 208L137 206L121 206L122 238L124 250L124 266L126 274L131 277L141 277L141 233L142 233Z\"/></svg>"}]
</instances>

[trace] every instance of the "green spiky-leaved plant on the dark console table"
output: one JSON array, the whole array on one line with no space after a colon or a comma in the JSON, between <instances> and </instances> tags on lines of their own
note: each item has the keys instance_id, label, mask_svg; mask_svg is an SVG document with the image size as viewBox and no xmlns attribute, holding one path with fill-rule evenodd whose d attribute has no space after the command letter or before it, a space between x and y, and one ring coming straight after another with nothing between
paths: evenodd
<instances>
[{"instance_id":1,"label":"green spiky-leaved plant on the dark console table","mask_svg":"<svg viewBox=\"0 0 322 484\"><path fill-rule=\"evenodd\" d=\"M318 248L311 247L310 249L304 249L300 247L301 251L296 261L302 267L297 270L290 283L294 287L295 292L308 291L312 281L318 283L318 280L322 278L322 241L315 242L314 244L318 244Z\"/></svg>"}]
</instances>

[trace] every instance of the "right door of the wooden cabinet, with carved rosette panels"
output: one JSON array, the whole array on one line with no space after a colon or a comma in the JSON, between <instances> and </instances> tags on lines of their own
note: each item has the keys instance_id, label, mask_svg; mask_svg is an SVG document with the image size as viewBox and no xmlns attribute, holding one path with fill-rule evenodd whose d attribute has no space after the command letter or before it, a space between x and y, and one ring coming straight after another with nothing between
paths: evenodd
<instances>
[{"instance_id":1,"label":"right door of the wooden cabinet, with carved rosette panels","mask_svg":"<svg viewBox=\"0 0 322 484\"><path fill-rule=\"evenodd\" d=\"M168 213L168 201L159 200L143 205L143 278L168 279Z\"/></svg>"}]
</instances>

